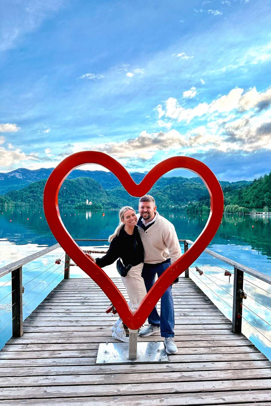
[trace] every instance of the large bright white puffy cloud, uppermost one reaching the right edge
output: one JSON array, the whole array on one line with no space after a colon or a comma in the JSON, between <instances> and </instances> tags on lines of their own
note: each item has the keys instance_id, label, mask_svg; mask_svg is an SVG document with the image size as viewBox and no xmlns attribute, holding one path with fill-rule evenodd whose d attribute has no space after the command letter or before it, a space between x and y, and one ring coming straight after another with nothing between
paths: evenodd
<instances>
[{"instance_id":1,"label":"large bright white puffy cloud, uppermost one reaching the right edge","mask_svg":"<svg viewBox=\"0 0 271 406\"><path fill-rule=\"evenodd\" d=\"M241 88L235 88L228 95L223 95L210 104L199 103L194 108L188 109L183 108L174 97L169 97L165 102L165 112L161 105L157 106L157 110L159 107L159 110L164 112L166 117L189 123L194 117L201 117L207 113L230 112L234 109L246 111L255 107L261 108L261 106L267 106L271 103L271 89L260 93L254 87L244 95L243 91Z\"/></svg>"}]
</instances>

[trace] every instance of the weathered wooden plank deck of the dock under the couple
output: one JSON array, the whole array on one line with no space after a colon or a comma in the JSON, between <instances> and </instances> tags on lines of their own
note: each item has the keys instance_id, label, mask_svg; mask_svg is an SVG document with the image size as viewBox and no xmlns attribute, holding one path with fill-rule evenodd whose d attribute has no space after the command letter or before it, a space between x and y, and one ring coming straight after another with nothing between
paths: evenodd
<instances>
[{"instance_id":1,"label":"weathered wooden plank deck of the dock under the couple","mask_svg":"<svg viewBox=\"0 0 271 406\"><path fill-rule=\"evenodd\" d=\"M191 279L180 278L173 297L178 354L169 363L95 365L99 343L119 342L117 317L91 279L61 281L0 352L0 406L271 405L271 362Z\"/></svg>"}]
</instances>

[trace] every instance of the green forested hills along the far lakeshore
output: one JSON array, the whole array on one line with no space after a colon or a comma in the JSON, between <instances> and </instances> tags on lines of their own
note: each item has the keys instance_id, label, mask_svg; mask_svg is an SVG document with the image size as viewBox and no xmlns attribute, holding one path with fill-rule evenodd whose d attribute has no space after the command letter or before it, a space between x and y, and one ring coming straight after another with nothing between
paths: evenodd
<instances>
[{"instance_id":1,"label":"green forested hills along the far lakeshore","mask_svg":"<svg viewBox=\"0 0 271 406\"><path fill-rule=\"evenodd\" d=\"M59 207L85 209L87 207L86 199L92 202L92 209L119 209L124 205L137 207L137 197L130 196L122 186L112 187L112 185L119 184L113 174L95 171L95 175L102 179L109 188L104 188L100 182L90 177L66 179L59 192ZM143 176L142 173L134 174L137 183ZM0 196L0 205L9 207L42 206L45 183L44 179L30 183L21 190L10 190L4 196ZM221 182L221 186L225 197L225 212L232 212L232 210L246 212L253 207L268 210L271 206L271 173L255 179L252 184L248 181ZM210 199L206 186L197 177L190 179L161 177L149 193L156 199L157 206L163 207L163 209L186 208L188 212L210 211Z\"/></svg>"}]
</instances>

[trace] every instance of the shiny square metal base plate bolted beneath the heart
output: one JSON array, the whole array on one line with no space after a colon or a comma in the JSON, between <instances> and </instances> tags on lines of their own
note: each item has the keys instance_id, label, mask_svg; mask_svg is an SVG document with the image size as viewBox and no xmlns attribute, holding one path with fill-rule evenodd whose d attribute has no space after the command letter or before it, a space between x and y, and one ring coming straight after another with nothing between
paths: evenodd
<instances>
[{"instance_id":1,"label":"shiny square metal base plate bolted beneath the heart","mask_svg":"<svg viewBox=\"0 0 271 406\"><path fill-rule=\"evenodd\" d=\"M163 341L137 343L137 359L128 359L129 343L101 343L96 364L169 362Z\"/></svg>"}]
</instances>

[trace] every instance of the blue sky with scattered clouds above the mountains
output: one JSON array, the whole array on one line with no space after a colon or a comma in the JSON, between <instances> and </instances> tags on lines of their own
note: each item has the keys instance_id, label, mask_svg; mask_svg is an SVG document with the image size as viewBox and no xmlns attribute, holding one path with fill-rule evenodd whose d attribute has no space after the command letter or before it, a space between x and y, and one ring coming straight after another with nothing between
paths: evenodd
<instances>
[{"instance_id":1,"label":"blue sky with scattered clouds above the mountains","mask_svg":"<svg viewBox=\"0 0 271 406\"><path fill-rule=\"evenodd\" d=\"M189 155L221 180L269 173L269 0L0 8L0 171L98 150L129 171Z\"/></svg>"}]
</instances>

